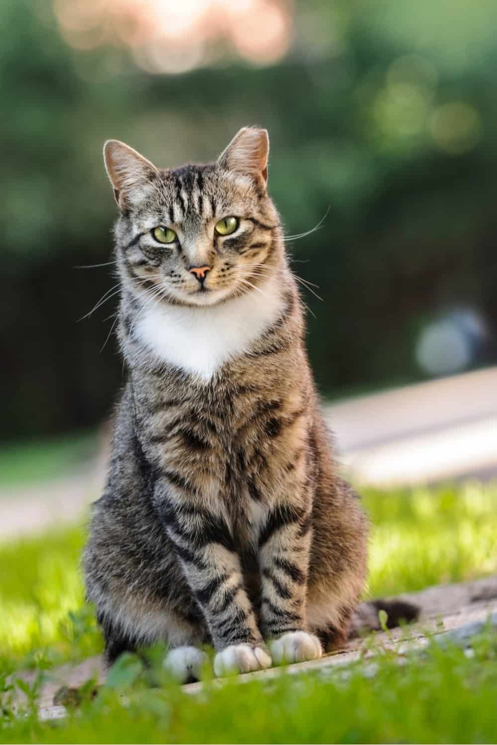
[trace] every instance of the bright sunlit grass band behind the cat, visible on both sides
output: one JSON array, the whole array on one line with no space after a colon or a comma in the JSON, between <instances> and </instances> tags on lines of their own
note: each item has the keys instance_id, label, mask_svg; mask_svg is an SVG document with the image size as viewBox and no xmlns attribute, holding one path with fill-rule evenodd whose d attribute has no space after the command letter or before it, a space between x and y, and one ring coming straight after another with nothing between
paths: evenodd
<instances>
[{"instance_id":1,"label":"bright sunlit grass band behind the cat, visible on both sides","mask_svg":"<svg viewBox=\"0 0 497 745\"><path fill-rule=\"evenodd\" d=\"M369 595L497 572L497 487L364 493L373 522ZM31 664L101 650L83 603L82 527L0 545L0 658ZM69 615L71 614L71 615Z\"/></svg>"}]
</instances>

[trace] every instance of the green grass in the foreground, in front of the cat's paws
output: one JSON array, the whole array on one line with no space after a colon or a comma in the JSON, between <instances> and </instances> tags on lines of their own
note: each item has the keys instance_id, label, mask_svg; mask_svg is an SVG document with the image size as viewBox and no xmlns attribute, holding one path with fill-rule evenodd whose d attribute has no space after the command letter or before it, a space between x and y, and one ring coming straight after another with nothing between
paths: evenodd
<instances>
[{"instance_id":1,"label":"green grass in the foreground, in front of the cat's paws","mask_svg":"<svg viewBox=\"0 0 497 745\"><path fill-rule=\"evenodd\" d=\"M472 656L432 643L422 656L383 653L355 664L221 688L181 691L158 666L128 656L109 685L67 720L39 723L34 706L13 717L4 696L3 743L493 743L497 737L497 635ZM0 681L1 683L1 681ZM159 684L159 685L157 685ZM1 687L1 686L0 686ZM33 697L34 698L34 697ZM1 722L3 720L3 726Z\"/></svg>"}]
</instances>

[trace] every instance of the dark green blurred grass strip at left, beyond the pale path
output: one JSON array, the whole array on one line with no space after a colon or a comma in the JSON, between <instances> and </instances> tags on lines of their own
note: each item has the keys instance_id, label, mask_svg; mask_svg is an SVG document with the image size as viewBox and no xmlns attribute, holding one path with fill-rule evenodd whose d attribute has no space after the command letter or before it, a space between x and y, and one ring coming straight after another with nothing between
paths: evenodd
<instances>
[{"instance_id":1,"label":"dark green blurred grass strip at left, beyond the pale path","mask_svg":"<svg viewBox=\"0 0 497 745\"><path fill-rule=\"evenodd\" d=\"M31 442L10 443L0 451L0 486L48 481L71 471L95 455L95 431Z\"/></svg>"}]
</instances>

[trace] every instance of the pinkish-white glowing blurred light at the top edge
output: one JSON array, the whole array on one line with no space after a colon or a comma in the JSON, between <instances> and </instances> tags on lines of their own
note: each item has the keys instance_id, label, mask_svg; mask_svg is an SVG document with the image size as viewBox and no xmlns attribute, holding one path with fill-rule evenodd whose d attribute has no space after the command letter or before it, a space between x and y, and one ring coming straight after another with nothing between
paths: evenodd
<instances>
[{"instance_id":1,"label":"pinkish-white glowing blurred light at the top edge","mask_svg":"<svg viewBox=\"0 0 497 745\"><path fill-rule=\"evenodd\" d=\"M54 0L54 12L73 48L128 48L148 72L186 72L229 47L276 63L293 37L291 0Z\"/></svg>"}]
</instances>

